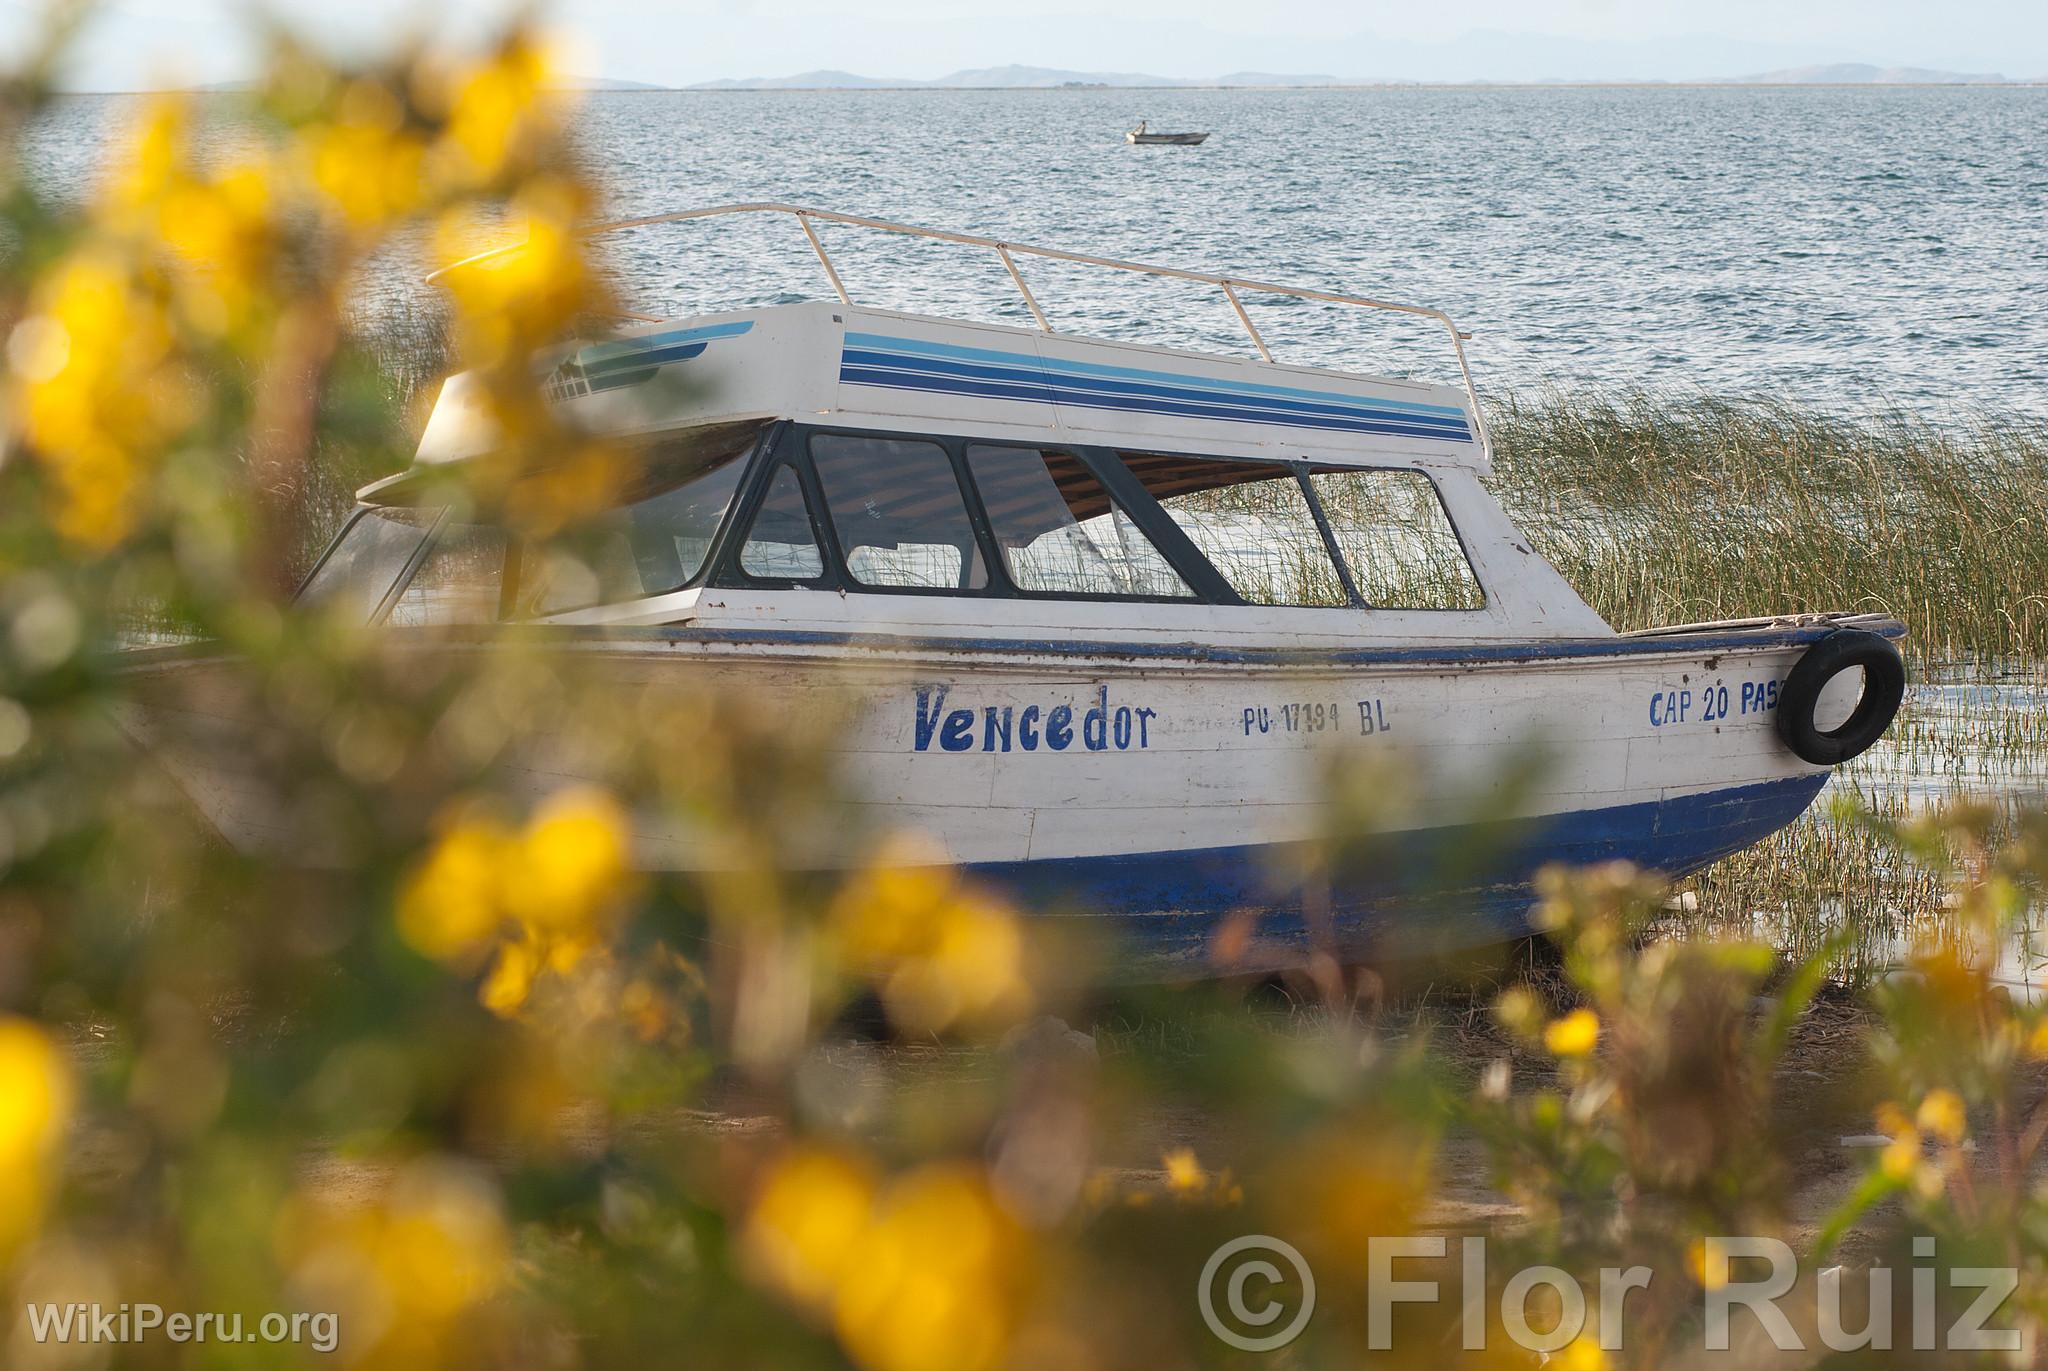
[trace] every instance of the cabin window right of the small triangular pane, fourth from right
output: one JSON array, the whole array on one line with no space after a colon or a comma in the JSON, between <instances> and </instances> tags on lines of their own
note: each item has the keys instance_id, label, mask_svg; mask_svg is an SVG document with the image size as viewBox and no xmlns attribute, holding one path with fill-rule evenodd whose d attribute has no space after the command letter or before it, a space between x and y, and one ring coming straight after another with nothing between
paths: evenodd
<instances>
[{"instance_id":1,"label":"cabin window right of the small triangular pane, fourth from right","mask_svg":"<svg viewBox=\"0 0 2048 1371\"><path fill-rule=\"evenodd\" d=\"M981 590L989 570L938 443L811 434L846 572L879 590Z\"/></svg>"}]
</instances>

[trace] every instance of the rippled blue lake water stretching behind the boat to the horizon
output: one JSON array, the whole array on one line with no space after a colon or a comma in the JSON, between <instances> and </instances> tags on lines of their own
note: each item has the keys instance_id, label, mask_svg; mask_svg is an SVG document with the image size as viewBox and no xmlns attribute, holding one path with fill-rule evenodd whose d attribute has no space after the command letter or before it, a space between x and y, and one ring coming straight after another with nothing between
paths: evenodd
<instances>
[{"instance_id":1,"label":"rippled blue lake water stretching behind the boat to the horizon","mask_svg":"<svg viewBox=\"0 0 2048 1371\"><path fill-rule=\"evenodd\" d=\"M80 182L117 100L37 164ZM1130 148L1122 129L1208 129ZM2048 414L2048 90L1409 88L596 94L618 215L784 199L1430 303L1483 391L1649 385ZM854 299L1028 322L999 262L827 230ZM827 293L788 221L610 240L623 293ZM1028 264L1055 326L1243 350L1194 285ZM1282 361L1442 375L1442 340L1253 303ZM1423 350L1415 350L1423 348Z\"/></svg>"}]
</instances>

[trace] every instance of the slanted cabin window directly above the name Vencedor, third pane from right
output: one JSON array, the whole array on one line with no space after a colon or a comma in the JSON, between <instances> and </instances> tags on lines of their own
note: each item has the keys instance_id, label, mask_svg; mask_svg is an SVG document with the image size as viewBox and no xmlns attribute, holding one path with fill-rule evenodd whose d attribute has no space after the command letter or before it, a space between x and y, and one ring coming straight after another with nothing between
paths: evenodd
<instances>
[{"instance_id":1,"label":"slanted cabin window directly above the name Vencedor, third pane from right","mask_svg":"<svg viewBox=\"0 0 2048 1371\"><path fill-rule=\"evenodd\" d=\"M1194 594L1079 457L969 443L967 469L1018 590L1133 598Z\"/></svg>"}]
</instances>

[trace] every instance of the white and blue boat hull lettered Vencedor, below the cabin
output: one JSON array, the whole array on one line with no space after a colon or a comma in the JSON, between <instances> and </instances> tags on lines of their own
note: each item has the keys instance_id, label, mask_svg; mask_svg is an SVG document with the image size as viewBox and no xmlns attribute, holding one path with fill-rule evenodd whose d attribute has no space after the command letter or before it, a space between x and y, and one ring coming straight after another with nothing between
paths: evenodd
<instances>
[{"instance_id":1,"label":"white and blue boat hull lettered Vencedor, below the cabin","mask_svg":"<svg viewBox=\"0 0 2048 1371\"><path fill-rule=\"evenodd\" d=\"M918 830L1036 910L1184 959L1247 910L1282 949L1321 910L1343 943L1483 943L1522 928L1548 861L1681 875L1763 838L1827 779L1774 730L1780 682L1827 631L1356 652L690 627L559 639L621 697L735 691L836 719L823 746L850 791L846 832ZM262 723L225 695L225 664L139 670L127 723L221 834L322 861L244 764ZM545 725L526 740L532 795L575 777L555 742ZM1403 799L1376 820L1374 861L1309 879L1335 762L1376 768ZM649 869L707 863L653 820L635 846ZM1430 918L1407 918L1423 904Z\"/></svg>"}]
</instances>

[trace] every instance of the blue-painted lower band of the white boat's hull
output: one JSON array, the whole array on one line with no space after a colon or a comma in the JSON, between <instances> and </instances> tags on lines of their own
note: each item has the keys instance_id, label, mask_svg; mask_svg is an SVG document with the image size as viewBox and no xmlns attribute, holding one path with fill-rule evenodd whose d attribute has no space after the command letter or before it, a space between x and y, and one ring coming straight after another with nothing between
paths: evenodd
<instances>
[{"instance_id":1,"label":"blue-painted lower band of the white boat's hull","mask_svg":"<svg viewBox=\"0 0 2048 1371\"><path fill-rule=\"evenodd\" d=\"M1358 957L1485 947L1530 930L1530 879L1548 863L1632 861L1688 875L1784 828L1827 773L1511 824L1389 836L1329 883L1339 949ZM1309 947L1305 887L1282 846L985 863L973 871L1026 906L1110 932L1139 965L1196 967L1217 928L1257 912L1253 963Z\"/></svg>"}]
</instances>

